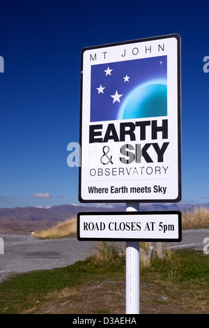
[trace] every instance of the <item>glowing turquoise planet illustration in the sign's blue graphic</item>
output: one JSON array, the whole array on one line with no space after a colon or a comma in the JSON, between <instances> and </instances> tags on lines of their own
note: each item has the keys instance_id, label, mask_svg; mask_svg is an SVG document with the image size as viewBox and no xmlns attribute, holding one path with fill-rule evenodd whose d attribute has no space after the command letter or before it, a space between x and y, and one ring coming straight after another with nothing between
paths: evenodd
<instances>
[{"instance_id":1,"label":"glowing turquoise planet illustration in the sign's blue graphic","mask_svg":"<svg viewBox=\"0 0 209 328\"><path fill-rule=\"evenodd\" d=\"M167 116L167 81L140 84L130 91L118 113L118 119Z\"/></svg>"}]
</instances>

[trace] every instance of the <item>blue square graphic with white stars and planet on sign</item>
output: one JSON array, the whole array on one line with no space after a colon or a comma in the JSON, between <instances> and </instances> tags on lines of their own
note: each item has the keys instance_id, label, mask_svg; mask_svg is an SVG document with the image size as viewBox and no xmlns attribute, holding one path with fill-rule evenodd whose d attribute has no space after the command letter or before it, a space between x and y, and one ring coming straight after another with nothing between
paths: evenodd
<instances>
[{"instance_id":1,"label":"blue square graphic with white stars and planet on sign","mask_svg":"<svg viewBox=\"0 0 209 328\"><path fill-rule=\"evenodd\" d=\"M91 66L91 122L167 116L167 56Z\"/></svg>"}]
</instances>

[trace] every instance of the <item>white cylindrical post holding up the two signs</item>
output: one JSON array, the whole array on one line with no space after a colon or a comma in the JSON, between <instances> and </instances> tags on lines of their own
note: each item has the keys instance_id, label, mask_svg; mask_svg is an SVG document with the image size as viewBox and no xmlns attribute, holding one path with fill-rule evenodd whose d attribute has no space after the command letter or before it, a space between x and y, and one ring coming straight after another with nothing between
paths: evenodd
<instances>
[{"instance_id":1,"label":"white cylindrical post holding up the two signs","mask_svg":"<svg viewBox=\"0 0 209 328\"><path fill-rule=\"evenodd\" d=\"M126 204L126 211L139 211L139 203ZM139 314L139 242L126 242L126 313Z\"/></svg>"}]
</instances>

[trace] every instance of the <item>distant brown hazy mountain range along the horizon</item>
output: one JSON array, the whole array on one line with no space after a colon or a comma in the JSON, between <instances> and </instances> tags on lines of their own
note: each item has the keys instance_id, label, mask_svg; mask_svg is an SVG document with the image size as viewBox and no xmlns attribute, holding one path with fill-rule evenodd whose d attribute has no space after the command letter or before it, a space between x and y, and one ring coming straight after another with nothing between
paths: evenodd
<instances>
[{"instance_id":1,"label":"distant brown hazy mountain range along the horizon","mask_svg":"<svg viewBox=\"0 0 209 328\"><path fill-rule=\"evenodd\" d=\"M140 204L141 211L189 211L196 207L206 207L209 204ZM89 206L65 204L50 208L14 207L0 209L0 234L29 233L34 230L45 230L57 225L61 221L75 218L78 212L125 211L125 204L104 204Z\"/></svg>"}]
</instances>

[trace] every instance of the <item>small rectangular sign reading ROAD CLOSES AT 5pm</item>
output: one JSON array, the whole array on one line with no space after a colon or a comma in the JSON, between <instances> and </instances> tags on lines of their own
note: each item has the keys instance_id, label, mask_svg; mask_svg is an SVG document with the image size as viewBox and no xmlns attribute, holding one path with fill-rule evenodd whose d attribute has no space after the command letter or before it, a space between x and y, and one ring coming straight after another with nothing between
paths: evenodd
<instances>
[{"instance_id":1,"label":"small rectangular sign reading ROAD CLOSES AT 5pm","mask_svg":"<svg viewBox=\"0 0 209 328\"><path fill-rule=\"evenodd\" d=\"M181 241L180 211L77 214L80 241Z\"/></svg>"}]
</instances>

